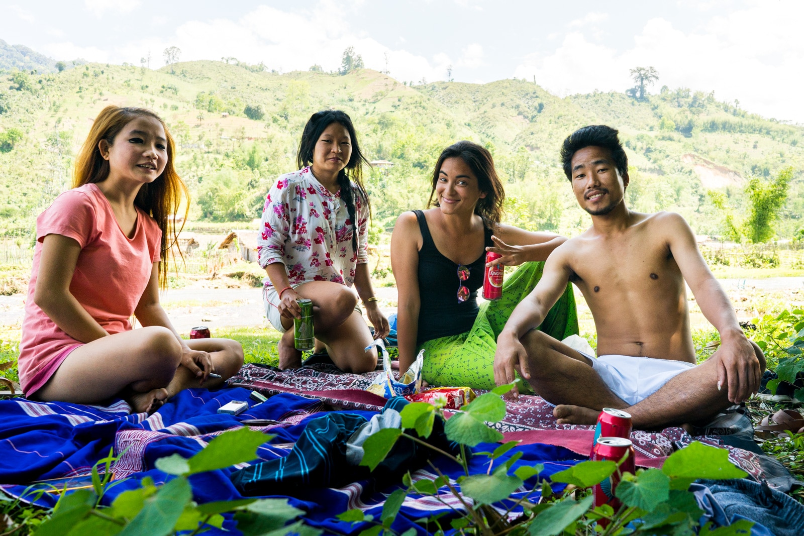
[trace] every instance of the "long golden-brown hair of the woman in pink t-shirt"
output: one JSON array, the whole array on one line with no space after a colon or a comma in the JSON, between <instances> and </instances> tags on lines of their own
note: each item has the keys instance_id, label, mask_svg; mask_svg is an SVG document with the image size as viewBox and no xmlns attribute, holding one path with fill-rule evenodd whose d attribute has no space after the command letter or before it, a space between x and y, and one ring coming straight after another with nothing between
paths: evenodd
<instances>
[{"instance_id":1,"label":"long golden-brown hair of the woman in pink t-shirt","mask_svg":"<svg viewBox=\"0 0 804 536\"><path fill-rule=\"evenodd\" d=\"M143 184L137 192L137 198L134 199L134 204L155 219L159 228L162 229L162 243L159 245L162 259L162 264L159 267L159 287L165 288L167 285L167 252L176 243L178 233L184 227L183 220L182 226L178 228L178 231L176 230L175 216L178 213L182 199L187 199L187 207L184 211L184 219L187 219L187 214L190 211L190 192L187 190L187 185L184 184L182 178L176 173L176 168L173 165L175 145L165 121L162 121L162 117L146 108L121 108L119 106L103 108L98 117L95 118L95 122L92 123L87 140L84 141L84 145L81 145L78 156L76 156L76 169L72 177L72 187L77 188L91 182L103 182L109 177L109 162L100 155L100 148L98 147L100 140L106 140L109 145L113 145L114 138L123 127L133 119L142 116L153 117L162 123L167 139L167 164L165 170L154 182ZM170 243L167 241L169 231L173 237Z\"/></svg>"}]
</instances>

